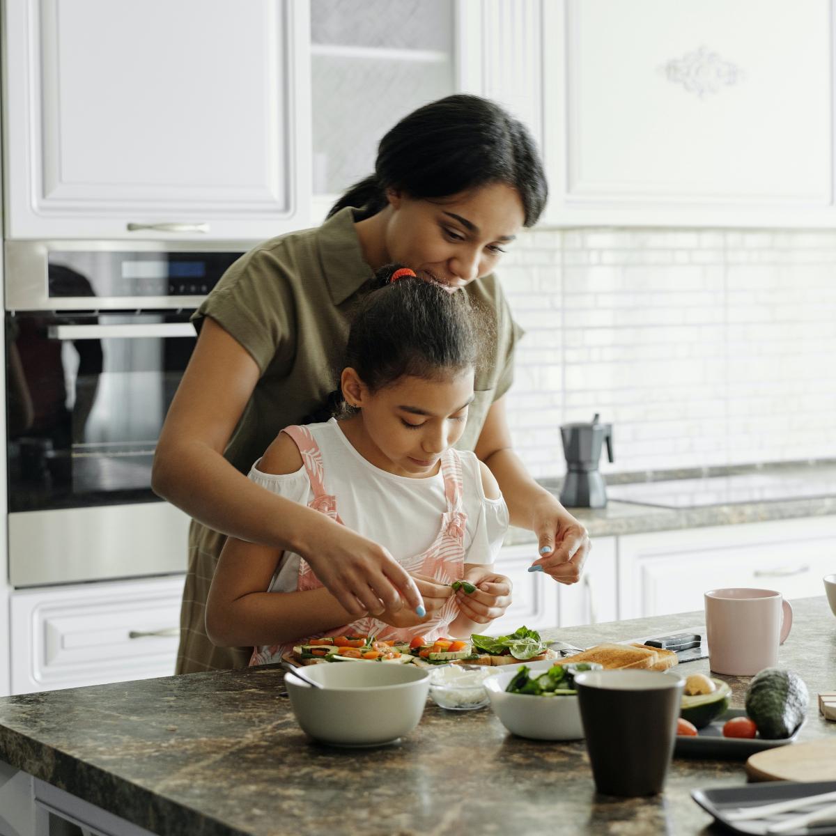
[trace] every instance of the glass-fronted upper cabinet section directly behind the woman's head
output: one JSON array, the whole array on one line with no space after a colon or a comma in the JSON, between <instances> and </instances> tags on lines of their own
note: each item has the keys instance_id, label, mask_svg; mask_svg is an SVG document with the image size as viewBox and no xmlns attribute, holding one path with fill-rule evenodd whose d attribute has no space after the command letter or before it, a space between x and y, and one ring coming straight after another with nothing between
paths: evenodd
<instances>
[{"instance_id":1,"label":"glass-fronted upper cabinet section directly behind the woman's head","mask_svg":"<svg viewBox=\"0 0 836 836\"><path fill-rule=\"evenodd\" d=\"M375 169L380 138L458 89L457 3L311 0L315 211Z\"/></svg>"}]
</instances>

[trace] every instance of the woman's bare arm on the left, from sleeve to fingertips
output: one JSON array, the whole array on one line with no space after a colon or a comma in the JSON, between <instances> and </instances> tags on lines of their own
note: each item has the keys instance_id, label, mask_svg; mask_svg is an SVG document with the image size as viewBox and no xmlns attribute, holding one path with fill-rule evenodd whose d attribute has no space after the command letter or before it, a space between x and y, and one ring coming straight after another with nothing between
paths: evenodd
<instances>
[{"instance_id":1,"label":"woman's bare arm on the left, from sleeve to fingertips","mask_svg":"<svg viewBox=\"0 0 836 836\"><path fill-rule=\"evenodd\" d=\"M404 600L421 607L409 574L385 548L264 490L223 457L258 377L247 349L207 317L161 431L151 487L215 531L301 554L354 618L400 609Z\"/></svg>"}]
</instances>

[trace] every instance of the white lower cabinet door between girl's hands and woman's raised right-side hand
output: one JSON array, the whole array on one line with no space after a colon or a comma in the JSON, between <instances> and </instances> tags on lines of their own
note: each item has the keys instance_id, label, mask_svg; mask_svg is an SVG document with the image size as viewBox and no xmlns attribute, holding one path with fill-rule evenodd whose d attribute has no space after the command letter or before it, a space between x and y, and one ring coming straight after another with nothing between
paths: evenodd
<instances>
[{"instance_id":1,"label":"white lower cabinet door between girl's hands and woman's raised right-side hand","mask_svg":"<svg viewBox=\"0 0 836 836\"><path fill-rule=\"evenodd\" d=\"M537 543L506 546L495 563L498 573L507 575L513 584L513 603L501 619L485 624L489 635L505 635L526 627L554 627L558 624L557 584L542 572L529 572L528 567L537 559Z\"/></svg>"}]
</instances>

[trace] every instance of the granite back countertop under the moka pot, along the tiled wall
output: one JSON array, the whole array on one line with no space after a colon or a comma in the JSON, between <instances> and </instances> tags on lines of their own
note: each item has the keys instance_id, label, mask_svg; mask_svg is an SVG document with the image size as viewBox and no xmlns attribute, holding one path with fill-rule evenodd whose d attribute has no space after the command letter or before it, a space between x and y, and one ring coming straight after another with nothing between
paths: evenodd
<instances>
[{"instance_id":1,"label":"granite back countertop under the moka pot, along the tiled wall","mask_svg":"<svg viewBox=\"0 0 836 836\"><path fill-rule=\"evenodd\" d=\"M788 486L788 495L772 487L768 500L745 502L722 502L698 507L661 507L640 502L623 502L610 498L605 508L569 508L589 531L590 537L610 537L620 534L642 534L655 531L675 531L682 528L732 525L737 523L763 523L770 520L793 519L796 517L821 517L836 514L836 461L799 462L788 461L765 465L739 465L710 467L664 472L619 473L605 477L611 492L618 492L623 486L635 487L644 483L665 482L675 492L677 482L701 480L707 487L711 482L727 477L772 477L776 482ZM559 496L562 478L538 480L555 496ZM800 482L809 482L815 496L793 496L793 489ZM617 487L616 487L617 486ZM718 492L718 497L721 493ZM505 545L534 543L533 532L523 528L511 528L505 538Z\"/></svg>"}]
</instances>

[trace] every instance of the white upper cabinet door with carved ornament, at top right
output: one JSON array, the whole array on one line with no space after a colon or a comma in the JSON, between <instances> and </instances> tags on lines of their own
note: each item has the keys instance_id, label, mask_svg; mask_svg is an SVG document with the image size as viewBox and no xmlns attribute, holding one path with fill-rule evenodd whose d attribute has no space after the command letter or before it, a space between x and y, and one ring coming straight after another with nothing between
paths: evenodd
<instances>
[{"instance_id":1,"label":"white upper cabinet door with carved ornament, at top right","mask_svg":"<svg viewBox=\"0 0 836 836\"><path fill-rule=\"evenodd\" d=\"M564 0L544 16L548 221L836 220L828 0Z\"/></svg>"}]
</instances>

